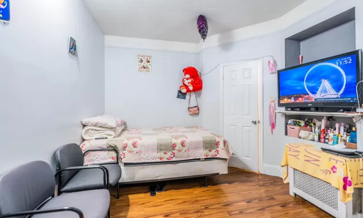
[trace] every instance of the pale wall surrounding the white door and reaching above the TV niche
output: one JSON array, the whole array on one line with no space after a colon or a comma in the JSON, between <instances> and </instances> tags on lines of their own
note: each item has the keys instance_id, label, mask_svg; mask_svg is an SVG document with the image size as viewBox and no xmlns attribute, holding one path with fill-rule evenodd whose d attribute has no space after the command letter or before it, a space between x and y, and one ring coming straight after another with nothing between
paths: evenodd
<instances>
[{"instance_id":1,"label":"pale wall surrounding the white door and reaching above the TV niche","mask_svg":"<svg viewBox=\"0 0 363 218\"><path fill-rule=\"evenodd\" d=\"M314 2L311 2L314 3ZM363 1L361 0L335 0L328 6L324 6L317 12L295 22L294 24L284 28L276 29L275 32L255 36L252 39L246 39L239 42L222 44L214 46L217 41L226 42L230 39L239 38L234 35L235 32L227 32L213 36L212 45L205 49L205 64L203 64L203 72L209 72L217 64L223 62L233 62L243 59L254 59L262 56L272 55L280 68L285 67L285 39L311 26L314 26L330 17L338 15L348 9L356 7L356 48L363 48ZM306 15L305 15L306 16ZM263 25L261 26L263 28ZM248 27L248 30L255 28ZM243 32L239 30L237 34ZM256 31L264 32L264 31ZM248 34L252 34L249 32ZM241 36L242 37L242 36ZM207 40L208 41L208 38ZM353 49L354 50L354 49ZM285 121L282 115L277 114L276 129L271 134L268 121L268 102L270 97L277 96L277 75L268 72L267 61L269 58L263 59L263 166L261 171L265 174L282 175L280 168L281 158L286 143L301 143L303 140L285 136ZM201 95L201 117L202 126L215 132L219 130L219 67L210 74L203 77L204 90ZM208 94L207 94L208 93ZM283 108L280 108L281 110ZM236 145L234 145L236 146Z\"/></svg>"}]
</instances>

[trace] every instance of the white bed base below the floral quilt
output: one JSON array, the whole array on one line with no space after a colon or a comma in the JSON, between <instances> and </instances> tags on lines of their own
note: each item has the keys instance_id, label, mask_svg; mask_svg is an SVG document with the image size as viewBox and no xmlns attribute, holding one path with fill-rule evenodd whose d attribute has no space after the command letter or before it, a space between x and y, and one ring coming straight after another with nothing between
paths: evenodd
<instances>
[{"instance_id":1,"label":"white bed base below the floral quilt","mask_svg":"<svg viewBox=\"0 0 363 218\"><path fill-rule=\"evenodd\" d=\"M227 159L220 158L141 164L120 163L120 166L120 184L205 177L204 186L207 186L206 176L228 173Z\"/></svg>"}]
</instances>

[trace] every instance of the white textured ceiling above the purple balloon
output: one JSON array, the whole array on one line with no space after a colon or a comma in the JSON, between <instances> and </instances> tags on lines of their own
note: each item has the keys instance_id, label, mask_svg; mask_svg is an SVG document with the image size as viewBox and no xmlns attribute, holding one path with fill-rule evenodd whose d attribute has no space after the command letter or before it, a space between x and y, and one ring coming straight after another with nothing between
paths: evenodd
<instances>
[{"instance_id":1,"label":"white textured ceiling above the purple balloon","mask_svg":"<svg viewBox=\"0 0 363 218\"><path fill-rule=\"evenodd\" d=\"M198 43L197 17L208 36L285 15L305 0L84 0L105 35ZM208 37L207 37L208 39Z\"/></svg>"}]
</instances>

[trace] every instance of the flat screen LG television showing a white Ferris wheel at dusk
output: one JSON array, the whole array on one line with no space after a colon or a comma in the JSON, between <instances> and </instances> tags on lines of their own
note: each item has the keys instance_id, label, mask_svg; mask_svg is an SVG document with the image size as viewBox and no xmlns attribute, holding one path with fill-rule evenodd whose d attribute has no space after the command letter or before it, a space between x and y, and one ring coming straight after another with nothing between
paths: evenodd
<instances>
[{"instance_id":1,"label":"flat screen LG television showing a white Ferris wheel at dusk","mask_svg":"<svg viewBox=\"0 0 363 218\"><path fill-rule=\"evenodd\" d=\"M357 107L356 86L361 78L362 50L279 70L278 106Z\"/></svg>"}]
</instances>

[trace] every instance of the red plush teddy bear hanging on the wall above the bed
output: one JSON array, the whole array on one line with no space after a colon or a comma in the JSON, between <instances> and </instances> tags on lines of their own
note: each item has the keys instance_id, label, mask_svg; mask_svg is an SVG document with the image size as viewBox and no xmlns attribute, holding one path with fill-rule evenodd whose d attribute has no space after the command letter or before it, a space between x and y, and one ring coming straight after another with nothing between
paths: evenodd
<instances>
[{"instance_id":1,"label":"red plush teddy bear hanging on the wall above the bed","mask_svg":"<svg viewBox=\"0 0 363 218\"><path fill-rule=\"evenodd\" d=\"M182 93L198 92L202 90L202 79L199 77L196 68L189 66L183 69L183 73L183 85L179 88Z\"/></svg>"}]
</instances>

